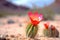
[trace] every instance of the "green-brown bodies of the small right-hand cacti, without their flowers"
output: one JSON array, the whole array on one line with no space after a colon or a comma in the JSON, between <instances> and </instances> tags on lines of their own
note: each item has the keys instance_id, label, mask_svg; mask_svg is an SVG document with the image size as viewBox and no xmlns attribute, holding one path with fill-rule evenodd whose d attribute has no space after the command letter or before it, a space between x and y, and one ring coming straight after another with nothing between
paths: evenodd
<instances>
[{"instance_id":1,"label":"green-brown bodies of the small right-hand cacti, without their flowers","mask_svg":"<svg viewBox=\"0 0 60 40\"><path fill-rule=\"evenodd\" d=\"M55 30L44 29L43 33L44 33L44 36L47 36L47 37L59 37L59 32L56 29Z\"/></svg>"}]
</instances>

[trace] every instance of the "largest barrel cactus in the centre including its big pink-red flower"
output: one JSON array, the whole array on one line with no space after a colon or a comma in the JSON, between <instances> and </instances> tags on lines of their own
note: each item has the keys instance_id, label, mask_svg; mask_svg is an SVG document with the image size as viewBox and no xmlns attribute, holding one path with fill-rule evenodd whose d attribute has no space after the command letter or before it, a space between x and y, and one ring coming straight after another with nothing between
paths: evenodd
<instances>
[{"instance_id":1,"label":"largest barrel cactus in the centre including its big pink-red flower","mask_svg":"<svg viewBox=\"0 0 60 40\"><path fill-rule=\"evenodd\" d=\"M34 38L38 31L38 24L43 19L43 15L38 14L37 12L35 12L34 14L32 14L32 12L29 12L28 15L31 22L26 27L26 35L27 37Z\"/></svg>"}]
</instances>

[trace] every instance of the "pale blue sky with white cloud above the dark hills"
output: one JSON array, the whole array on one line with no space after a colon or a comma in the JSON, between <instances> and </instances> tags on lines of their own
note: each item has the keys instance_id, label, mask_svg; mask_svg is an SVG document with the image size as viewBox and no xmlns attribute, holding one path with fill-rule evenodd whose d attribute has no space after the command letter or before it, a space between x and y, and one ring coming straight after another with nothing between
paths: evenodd
<instances>
[{"instance_id":1,"label":"pale blue sky with white cloud above the dark hills","mask_svg":"<svg viewBox=\"0 0 60 40\"><path fill-rule=\"evenodd\" d=\"M45 5L48 6L52 4L55 0L7 0L7 1L17 6L24 5L32 8L33 7L32 3L38 7L44 7Z\"/></svg>"}]
</instances>

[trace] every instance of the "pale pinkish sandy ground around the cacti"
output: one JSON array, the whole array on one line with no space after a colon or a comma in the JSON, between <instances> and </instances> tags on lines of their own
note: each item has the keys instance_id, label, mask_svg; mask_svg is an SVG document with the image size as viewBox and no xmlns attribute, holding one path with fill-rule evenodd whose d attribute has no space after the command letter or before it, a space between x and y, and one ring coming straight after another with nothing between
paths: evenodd
<instances>
[{"instance_id":1,"label":"pale pinkish sandy ground around the cacti","mask_svg":"<svg viewBox=\"0 0 60 40\"><path fill-rule=\"evenodd\" d=\"M15 21L13 24L8 24L7 21L9 19L12 19ZM29 38L26 37L26 26L28 23L28 18L26 17L7 17L7 18L2 18L0 19L0 22L3 22L0 24L0 34L1 35L14 35L17 38L15 40L29 40ZM50 22L50 24L53 24L56 26L57 30L59 30L60 33L60 21L42 21L39 24L39 30L38 33L35 37L35 39L30 39L30 40L60 40L60 35L59 38L48 38L43 36L43 23L45 22ZM0 37L1 37L0 35ZM11 37L8 37L11 39ZM11 39L14 40L14 39Z\"/></svg>"}]
</instances>

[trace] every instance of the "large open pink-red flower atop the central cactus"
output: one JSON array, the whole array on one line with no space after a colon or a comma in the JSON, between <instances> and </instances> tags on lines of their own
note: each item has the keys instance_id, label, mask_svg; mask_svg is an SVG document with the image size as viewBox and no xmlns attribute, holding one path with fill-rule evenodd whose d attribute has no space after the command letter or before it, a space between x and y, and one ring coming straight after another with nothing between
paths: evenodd
<instances>
[{"instance_id":1,"label":"large open pink-red flower atop the central cactus","mask_svg":"<svg viewBox=\"0 0 60 40\"><path fill-rule=\"evenodd\" d=\"M38 12L35 12L34 14L32 14L32 12L29 12L28 15L33 25L39 24L39 22L43 19L43 15L38 14Z\"/></svg>"}]
</instances>

